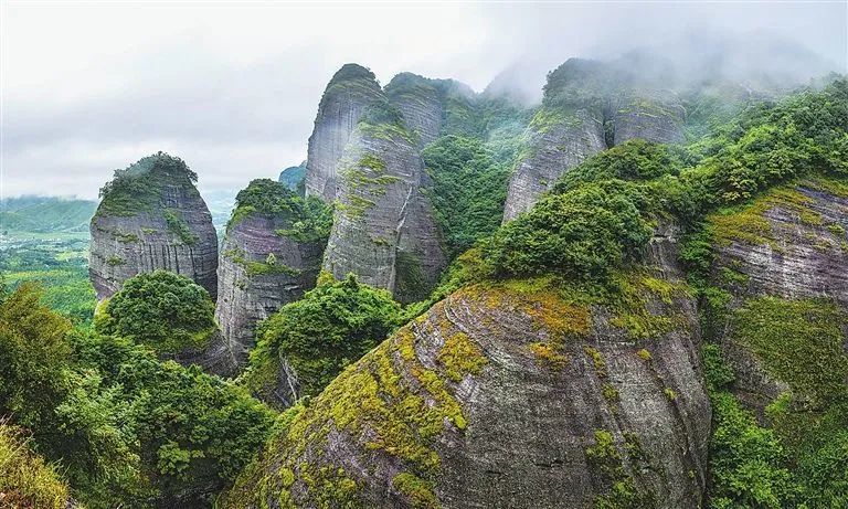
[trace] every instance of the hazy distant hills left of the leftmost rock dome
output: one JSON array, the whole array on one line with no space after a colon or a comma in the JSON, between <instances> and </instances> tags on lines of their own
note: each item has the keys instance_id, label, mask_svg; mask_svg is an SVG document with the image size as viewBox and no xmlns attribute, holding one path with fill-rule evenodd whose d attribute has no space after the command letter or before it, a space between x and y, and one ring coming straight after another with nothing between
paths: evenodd
<instances>
[{"instance_id":1,"label":"hazy distant hills left of the leftmost rock dome","mask_svg":"<svg viewBox=\"0 0 848 509\"><path fill-rule=\"evenodd\" d=\"M0 231L86 232L97 202L62 197L0 200Z\"/></svg>"}]
</instances>

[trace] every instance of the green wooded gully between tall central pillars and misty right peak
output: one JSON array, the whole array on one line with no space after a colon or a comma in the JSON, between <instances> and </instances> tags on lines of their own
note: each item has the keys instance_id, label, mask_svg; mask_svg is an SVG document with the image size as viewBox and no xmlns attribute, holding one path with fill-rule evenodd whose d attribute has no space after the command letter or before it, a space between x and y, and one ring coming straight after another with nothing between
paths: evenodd
<instances>
[{"instance_id":1,"label":"green wooded gully between tall central pillars and misty right peak","mask_svg":"<svg viewBox=\"0 0 848 509\"><path fill-rule=\"evenodd\" d=\"M430 199L451 258L500 226L510 167L476 138L448 135L422 152Z\"/></svg>"}]
</instances>

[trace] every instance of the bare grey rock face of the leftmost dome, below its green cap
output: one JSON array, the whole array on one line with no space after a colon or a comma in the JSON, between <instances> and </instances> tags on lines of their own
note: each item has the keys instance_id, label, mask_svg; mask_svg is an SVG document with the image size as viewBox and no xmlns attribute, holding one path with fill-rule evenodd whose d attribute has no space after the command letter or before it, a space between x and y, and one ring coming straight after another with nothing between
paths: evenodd
<instances>
[{"instance_id":1,"label":"bare grey rock face of the leftmost dome, below its green cap","mask_svg":"<svg viewBox=\"0 0 848 509\"><path fill-rule=\"evenodd\" d=\"M110 297L137 274L161 268L193 279L214 299L218 234L205 202L188 179L167 181L153 194L146 210L115 213L100 203L92 219L88 274L97 298Z\"/></svg>"}]
</instances>

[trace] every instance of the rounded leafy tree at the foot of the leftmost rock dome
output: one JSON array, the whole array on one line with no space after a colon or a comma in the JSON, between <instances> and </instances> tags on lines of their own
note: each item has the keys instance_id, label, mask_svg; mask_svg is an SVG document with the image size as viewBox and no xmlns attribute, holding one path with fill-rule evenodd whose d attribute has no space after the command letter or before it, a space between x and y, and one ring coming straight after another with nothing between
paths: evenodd
<instances>
[{"instance_id":1,"label":"rounded leafy tree at the foot of the leftmost rock dome","mask_svg":"<svg viewBox=\"0 0 848 509\"><path fill-rule=\"evenodd\" d=\"M215 330L215 305L209 293L188 277L167 271L140 274L95 317L105 335L129 338L162 353L202 348Z\"/></svg>"}]
</instances>

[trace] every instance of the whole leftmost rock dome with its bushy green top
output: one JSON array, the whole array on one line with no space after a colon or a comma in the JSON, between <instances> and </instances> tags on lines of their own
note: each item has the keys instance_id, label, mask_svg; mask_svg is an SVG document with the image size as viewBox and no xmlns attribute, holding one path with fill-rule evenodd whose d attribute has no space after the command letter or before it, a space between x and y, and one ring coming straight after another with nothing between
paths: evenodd
<instances>
[{"instance_id":1,"label":"whole leftmost rock dome with its bushy green top","mask_svg":"<svg viewBox=\"0 0 848 509\"><path fill-rule=\"evenodd\" d=\"M218 291L218 235L186 163L158 153L116 171L92 219L88 273L98 299L141 273L171 271Z\"/></svg>"}]
</instances>

